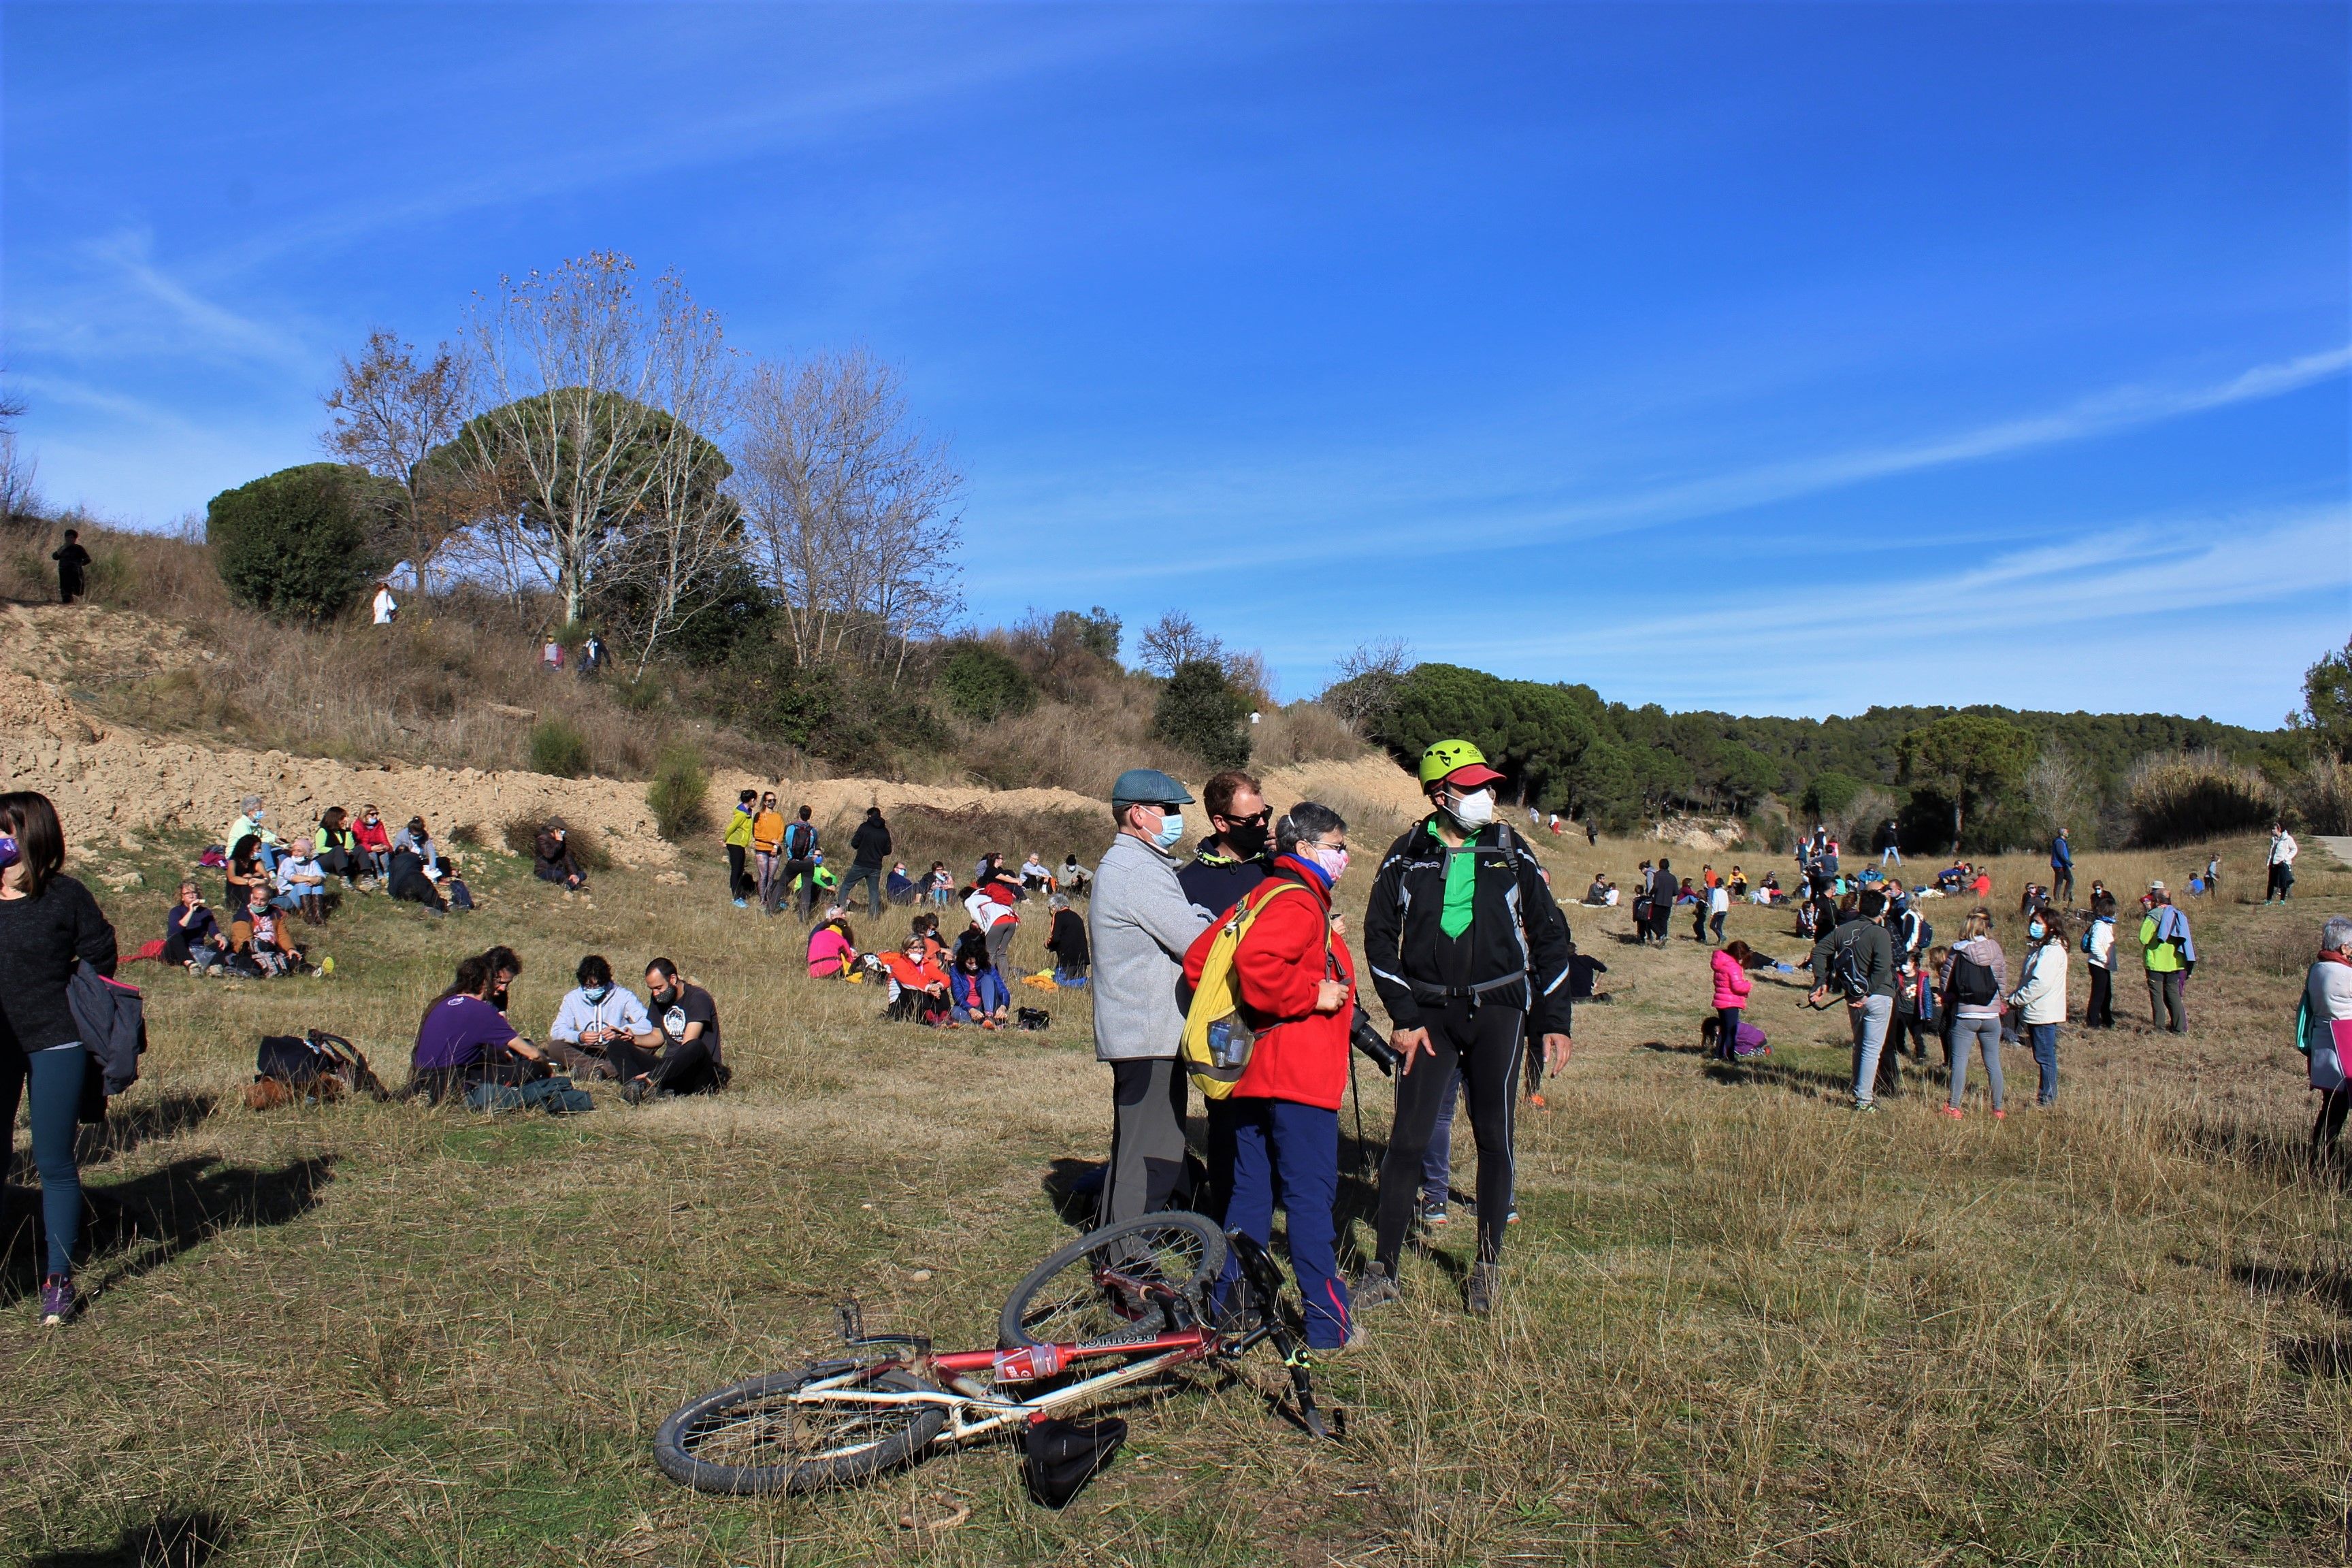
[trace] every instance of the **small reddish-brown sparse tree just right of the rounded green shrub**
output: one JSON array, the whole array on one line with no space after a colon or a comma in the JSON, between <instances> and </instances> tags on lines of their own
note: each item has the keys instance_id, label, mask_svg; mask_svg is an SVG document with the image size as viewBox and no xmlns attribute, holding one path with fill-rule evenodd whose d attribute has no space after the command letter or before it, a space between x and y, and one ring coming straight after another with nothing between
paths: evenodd
<instances>
[{"instance_id":1,"label":"small reddish-brown sparse tree just right of the rounded green shrub","mask_svg":"<svg viewBox=\"0 0 2352 1568\"><path fill-rule=\"evenodd\" d=\"M452 534L480 515L456 473L428 475L426 458L456 437L473 411L473 376L447 343L419 364L416 348L386 327L367 334L358 362L325 397L332 414L320 447L400 487L400 515L386 520L390 552L428 590L426 569Z\"/></svg>"}]
</instances>

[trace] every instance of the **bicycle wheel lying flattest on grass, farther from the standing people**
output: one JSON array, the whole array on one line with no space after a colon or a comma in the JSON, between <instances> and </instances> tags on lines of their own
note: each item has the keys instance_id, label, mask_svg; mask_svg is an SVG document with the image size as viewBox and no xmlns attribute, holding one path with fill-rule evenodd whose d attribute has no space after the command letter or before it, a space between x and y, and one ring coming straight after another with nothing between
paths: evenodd
<instances>
[{"instance_id":1,"label":"bicycle wheel lying flattest on grass, farther from the standing people","mask_svg":"<svg viewBox=\"0 0 2352 1568\"><path fill-rule=\"evenodd\" d=\"M840 1368L769 1373L684 1406L654 1434L654 1462L699 1493L814 1493L851 1486L922 1453L948 1413L936 1403L858 1399L920 1394L910 1373L877 1373L826 1401L809 1401L807 1385Z\"/></svg>"}]
</instances>

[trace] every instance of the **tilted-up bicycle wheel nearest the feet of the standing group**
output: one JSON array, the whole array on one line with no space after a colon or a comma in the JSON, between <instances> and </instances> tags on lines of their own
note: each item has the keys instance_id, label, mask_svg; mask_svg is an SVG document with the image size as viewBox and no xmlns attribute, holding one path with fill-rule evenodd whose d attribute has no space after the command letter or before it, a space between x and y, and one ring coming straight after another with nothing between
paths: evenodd
<instances>
[{"instance_id":1,"label":"tilted-up bicycle wheel nearest the feet of the standing group","mask_svg":"<svg viewBox=\"0 0 2352 1568\"><path fill-rule=\"evenodd\" d=\"M1225 1232L1167 1211L1089 1232L1028 1272L997 1319L997 1345L1150 1338L1207 1316Z\"/></svg>"}]
</instances>

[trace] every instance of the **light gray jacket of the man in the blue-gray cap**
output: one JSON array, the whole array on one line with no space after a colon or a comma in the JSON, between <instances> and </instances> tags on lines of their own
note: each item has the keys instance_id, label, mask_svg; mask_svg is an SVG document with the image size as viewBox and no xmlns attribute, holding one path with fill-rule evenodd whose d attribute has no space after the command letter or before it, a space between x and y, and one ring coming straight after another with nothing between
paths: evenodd
<instances>
[{"instance_id":1,"label":"light gray jacket of the man in the blue-gray cap","mask_svg":"<svg viewBox=\"0 0 2352 1568\"><path fill-rule=\"evenodd\" d=\"M1183 954L1209 926L1176 882L1176 860L1131 832L1103 851L1087 905L1094 945L1094 1058L1174 1058L1183 1041Z\"/></svg>"}]
</instances>

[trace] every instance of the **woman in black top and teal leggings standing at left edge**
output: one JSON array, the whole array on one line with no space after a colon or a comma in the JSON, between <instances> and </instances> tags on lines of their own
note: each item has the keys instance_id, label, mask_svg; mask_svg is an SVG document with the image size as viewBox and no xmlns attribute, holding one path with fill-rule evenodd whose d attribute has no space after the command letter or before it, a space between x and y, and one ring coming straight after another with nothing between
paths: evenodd
<instances>
[{"instance_id":1,"label":"woman in black top and teal leggings standing at left edge","mask_svg":"<svg viewBox=\"0 0 2352 1568\"><path fill-rule=\"evenodd\" d=\"M66 1001L75 961L115 973L115 929L73 877L64 877L66 830L47 795L0 795L0 1128L14 1131L31 1088L33 1166L40 1171L40 1225L47 1267L40 1321L73 1316L73 1251L82 1229L82 1173L75 1112L89 1053ZM0 1152L0 1175L12 1164Z\"/></svg>"}]
</instances>

